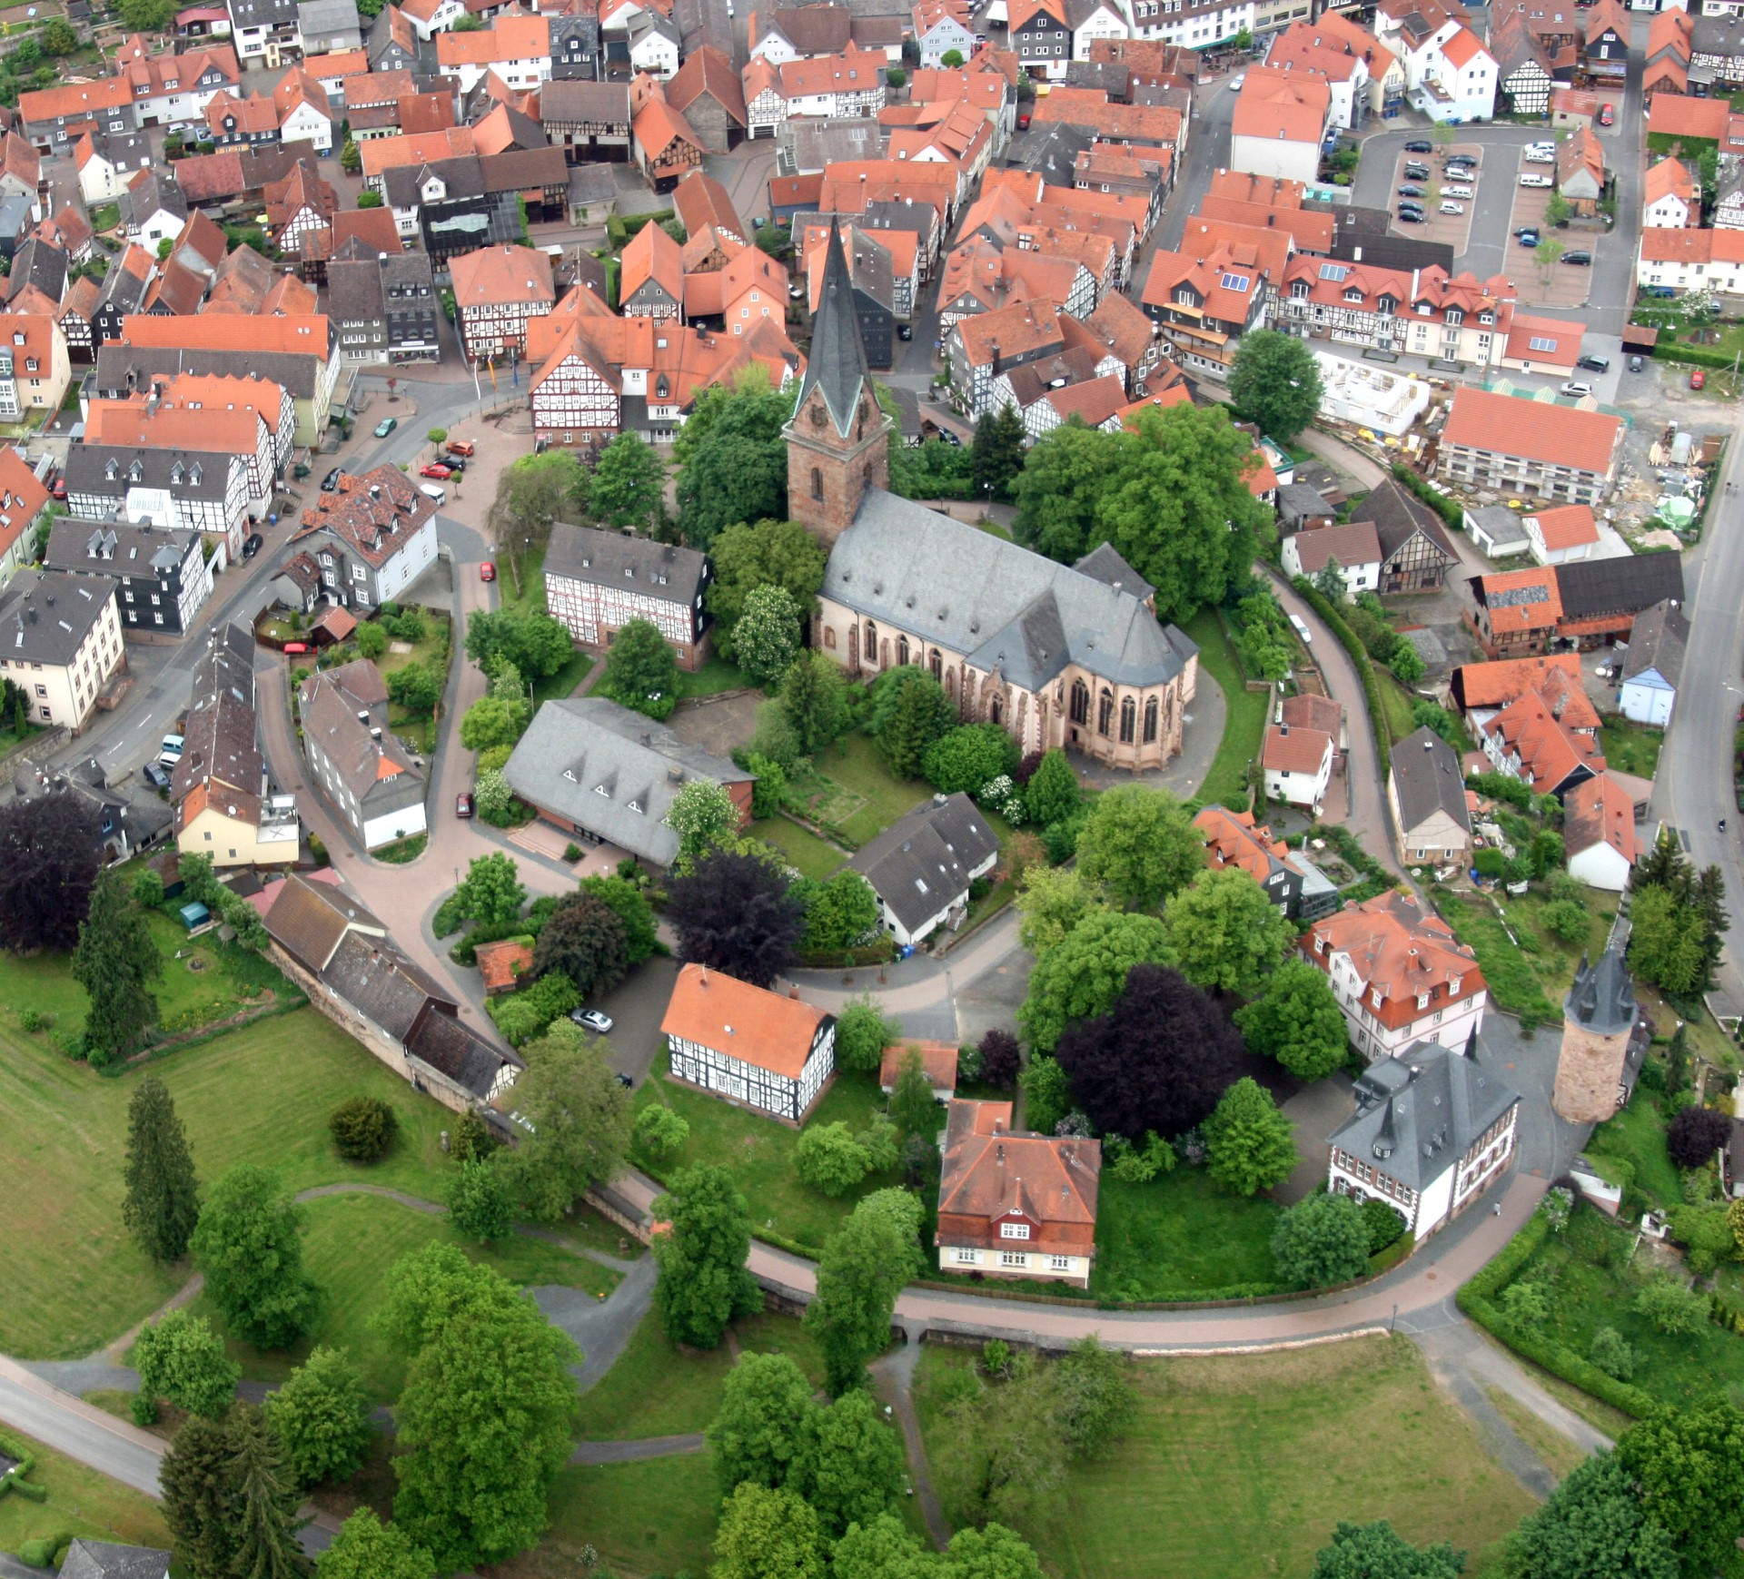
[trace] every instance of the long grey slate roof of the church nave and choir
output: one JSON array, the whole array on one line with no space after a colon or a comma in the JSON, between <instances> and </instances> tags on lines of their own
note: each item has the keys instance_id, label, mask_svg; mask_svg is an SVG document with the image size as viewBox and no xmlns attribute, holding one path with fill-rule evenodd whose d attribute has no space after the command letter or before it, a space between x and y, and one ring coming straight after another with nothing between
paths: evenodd
<instances>
[{"instance_id":1,"label":"long grey slate roof of the church nave and choir","mask_svg":"<svg viewBox=\"0 0 1744 1579\"><path fill-rule=\"evenodd\" d=\"M882 488L867 490L830 551L823 596L937 640L1024 690L1067 664L1121 685L1162 685L1198 652L1135 593Z\"/></svg>"}]
</instances>

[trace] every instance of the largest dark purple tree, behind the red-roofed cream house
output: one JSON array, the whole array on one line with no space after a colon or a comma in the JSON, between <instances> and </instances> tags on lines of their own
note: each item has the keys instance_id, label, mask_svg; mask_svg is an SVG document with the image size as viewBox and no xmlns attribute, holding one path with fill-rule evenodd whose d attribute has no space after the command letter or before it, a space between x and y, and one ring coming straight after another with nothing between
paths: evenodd
<instances>
[{"instance_id":1,"label":"largest dark purple tree, behind the red-roofed cream house","mask_svg":"<svg viewBox=\"0 0 1744 1579\"><path fill-rule=\"evenodd\" d=\"M1242 1039L1179 971L1134 966L1114 1007L1081 1020L1055 1054L1097 1129L1142 1143L1210 1117L1242 1074Z\"/></svg>"}]
</instances>

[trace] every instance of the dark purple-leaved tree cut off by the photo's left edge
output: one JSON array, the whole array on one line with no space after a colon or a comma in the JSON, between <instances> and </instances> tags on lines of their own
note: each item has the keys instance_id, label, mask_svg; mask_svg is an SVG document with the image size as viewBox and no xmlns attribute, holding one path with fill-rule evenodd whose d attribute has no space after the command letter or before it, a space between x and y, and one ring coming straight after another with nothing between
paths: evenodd
<instances>
[{"instance_id":1,"label":"dark purple-leaved tree cut off by the photo's left edge","mask_svg":"<svg viewBox=\"0 0 1744 1579\"><path fill-rule=\"evenodd\" d=\"M0 948L72 948L99 849L96 810L70 790L0 805Z\"/></svg>"}]
</instances>

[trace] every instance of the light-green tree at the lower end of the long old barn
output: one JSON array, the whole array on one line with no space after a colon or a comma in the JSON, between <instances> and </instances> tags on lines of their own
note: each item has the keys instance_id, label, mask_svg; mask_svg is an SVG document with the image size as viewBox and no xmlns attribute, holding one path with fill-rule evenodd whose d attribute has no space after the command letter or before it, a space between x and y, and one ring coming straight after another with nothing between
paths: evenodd
<instances>
[{"instance_id":1,"label":"light-green tree at the lower end of the long old barn","mask_svg":"<svg viewBox=\"0 0 1744 1579\"><path fill-rule=\"evenodd\" d=\"M528 1216L562 1222L579 1196L617 1173L633 1103L605 1061L605 1044L569 1020L521 1047L521 1058L514 1107L527 1124L501 1166Z\"/></svg>"}]
</instances>

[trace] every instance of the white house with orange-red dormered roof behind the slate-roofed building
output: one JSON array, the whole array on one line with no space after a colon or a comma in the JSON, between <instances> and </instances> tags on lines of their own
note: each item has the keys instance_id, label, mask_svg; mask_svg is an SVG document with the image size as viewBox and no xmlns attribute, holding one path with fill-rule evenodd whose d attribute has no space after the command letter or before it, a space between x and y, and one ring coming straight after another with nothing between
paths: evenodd
<instances>
[{"instance_id":1,"label":"white house with orange-red dormered roof behind the slate-roofed building","mask_svg":"<svg viewBox=\"0 0 1744 1579\"><path fill-rule=\"evenodd\" d=\"M1395 889L1317 920L1303 953L1327 972L1364 1056L1397 1058L1413 1042L1458 1047L1484 1023L1477 957L1413 894Z\"/></svg>"}]
</instances>

